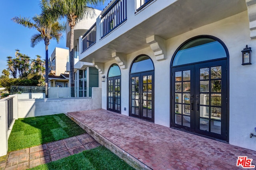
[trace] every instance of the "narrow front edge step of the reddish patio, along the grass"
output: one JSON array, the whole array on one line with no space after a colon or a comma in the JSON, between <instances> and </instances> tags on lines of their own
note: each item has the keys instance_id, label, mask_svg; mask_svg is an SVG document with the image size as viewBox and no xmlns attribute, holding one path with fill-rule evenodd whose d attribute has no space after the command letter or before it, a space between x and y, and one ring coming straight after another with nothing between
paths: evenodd
<instances>
[{"instance_id":1,"label":"narrow front edge step of the reddish patio, along the grass","mask_svg":"<svg viewBox=\"0 0 256 170\"><path fill-rule=\"evenodd\" d=\"M136 170L152 170L146 164L135 158L134 156L130 155L128 152L123 150L122 148L118 147L104 136L97 133L94 129L90 128L85 123L82 123L76 117L72 116L71 114L67 114L70 119L76 122L82 129L86 131L91 137L93 137L98 143L106 147L107 149L111 150L114 154L116 154L119 158L124 160L127 164L135 168Z\"/></svg>"}]
</instances>

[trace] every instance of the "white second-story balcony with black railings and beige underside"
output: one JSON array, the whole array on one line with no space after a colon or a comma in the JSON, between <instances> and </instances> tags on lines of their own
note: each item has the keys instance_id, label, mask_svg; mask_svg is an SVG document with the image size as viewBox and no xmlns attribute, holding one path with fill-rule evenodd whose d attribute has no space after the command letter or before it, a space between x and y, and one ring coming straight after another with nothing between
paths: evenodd
<instances>
[{"instance_id":1,"label":"white second-story balcony with black railings and beige underside","mask_svg":"<svg viewBox=\"0 0 256 170\"><path fill-rule=\"evenodd\" d=\"M165 41L246 10L243 0L113 0L80 37L79 60L106 63L149 47L152 36Z\"/></svg>"}]
</instances>

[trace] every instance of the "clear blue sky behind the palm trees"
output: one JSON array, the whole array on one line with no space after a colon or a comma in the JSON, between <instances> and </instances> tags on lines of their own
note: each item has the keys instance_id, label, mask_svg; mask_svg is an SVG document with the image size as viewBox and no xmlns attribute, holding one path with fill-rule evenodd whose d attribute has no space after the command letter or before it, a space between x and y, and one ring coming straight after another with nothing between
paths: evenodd
<instances>
[{"instance_id":1,"label":"clear blue sky behind the palm trees","mask_svg":"<svg viewBox=\"0 0 256 170\"><path fill-rule=\"evenodd\" d=\"M94 8L103 10L109 2L110 0L106 0L103 5ZM36 14L40 14L39 3L40 0L8 0L1 3L0 75L2 75L2 70L7 68L6 57L15 57L15 49L19 49L20 53L26 54L32 59L35 59L36 55L40 55L42 59L45 59L45 46L43 41L34 48L30 46L30 37L37 31L25 28L11 20L14 16L29 17L31 19ZM59 44L53 40L50 42L48 49L49 56L52 54L55 47L66 48L66 33L63 33L63 35Z\"/></svg>"}]
</instances>

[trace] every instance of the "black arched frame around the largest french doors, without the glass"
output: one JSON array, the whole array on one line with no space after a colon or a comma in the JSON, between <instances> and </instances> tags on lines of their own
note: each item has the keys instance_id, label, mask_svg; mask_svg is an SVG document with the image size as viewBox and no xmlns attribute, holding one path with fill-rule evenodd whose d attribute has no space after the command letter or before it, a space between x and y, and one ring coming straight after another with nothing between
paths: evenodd
<instances>
[{"instance_id":1,"label":"black arched frame around the largest french doors, without the glass","mask_svg":"<svg viewBox=\"0 0 256 170\"><path fill-rule=\"evenodd\" d=\"M211 39L214 39L216 41L218 41L222 47L224 48L225 52L226 52L226 58L223 58L223 59L226 59L226 140L223 141L223 140L220 140L220 139L216 139L216 138L212 138L212 137L209 137L209 136L205 136L205 135L201 135L201 134L198 134L198 133L194 133L194 132L190 132L190 131L187 131L187 130L183 130L183 129L179 129L179 128L175 128L175 127L172 127L172 103L173 103L173 98L172 98L172 94L170 94L170 127L171 128L175 128L175 129L178 129L178 130L182 130L182 131L186 131L186 132L190 132L190 133L193 133L195 135L199 135L199 136L203 136L203 137L206 137L206 138L210 138L210 139L215 139L215 140L220 140L220 141L223 141L223 142L229 142L229 86L230 86L230 82L229 82L229 52L228 52L228 48L226 47L226 45L224 44L224 42L220 39L218 39L217 37L214 37L212 35L198 35L198 36L195 36L195 37L192 37L188 40L186 40L184 43L182 43L177 49L176 51L174 52L174 55L172 56L172 59L171 59L171 63L170 63L170 92L172 93L172 89L173 89L173 81L172 81L172 68L175 68L175 67L180 67L180 66L188 66L190 64L184 64L184 65L179 65L179 66L172 66L173 64L173 61L174 61L174 58L176 56L176 54L178 53L179 49L186 43L188 43L189 41L192 41L193 39L196 39L196 38L211 38ZM218 61L218 60L222 60L222 59L216 59L216 60L210 60L210 61L202 61L202 62L198 62L198 63L191 63L191 64L199 64L199 63L208 63L208 62L211 62L211 61Z\"/></svg>"}]
</instances>

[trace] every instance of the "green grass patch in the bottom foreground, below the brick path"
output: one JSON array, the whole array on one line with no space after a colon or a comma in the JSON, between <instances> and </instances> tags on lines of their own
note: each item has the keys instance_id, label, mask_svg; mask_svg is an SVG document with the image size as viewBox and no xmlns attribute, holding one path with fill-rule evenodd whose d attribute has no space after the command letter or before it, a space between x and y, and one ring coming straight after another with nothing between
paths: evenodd
<instances>
[{"instance_id":1,"label":"green grass patch in the bottom foreground, below the brick path","mask_svg":"<svg viewBox=\"0 0 256 170\"><path fill-rule=\"evenodd\" d=\"M105 147L84 150L78 154L42 164L32 170L134 170Z\"/></svg>"}]
</instances>

